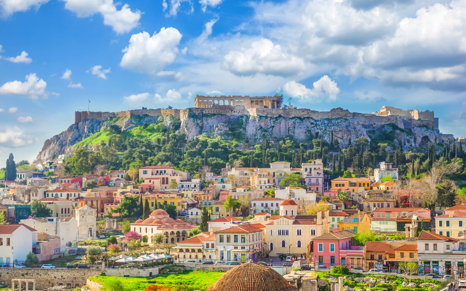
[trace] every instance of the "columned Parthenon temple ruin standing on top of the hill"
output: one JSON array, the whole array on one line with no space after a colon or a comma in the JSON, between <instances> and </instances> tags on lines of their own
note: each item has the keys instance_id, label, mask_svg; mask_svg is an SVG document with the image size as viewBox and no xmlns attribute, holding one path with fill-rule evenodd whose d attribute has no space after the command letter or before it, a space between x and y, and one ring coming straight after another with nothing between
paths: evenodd
<instances>
[{"instance_id":1,"label":"columned Parthenon temple ruin standing on top of the hill","mask_svg":"<svg viewBox=\"0 0 466 291\"><path fill-rule=\"evenodd\" d=\"M250 108L270 108L282 107L283 95L274 96L202 96L196 95L194 98L197 108L211 108L214 105L244 106Z\"/></svg>"}]
</instances>

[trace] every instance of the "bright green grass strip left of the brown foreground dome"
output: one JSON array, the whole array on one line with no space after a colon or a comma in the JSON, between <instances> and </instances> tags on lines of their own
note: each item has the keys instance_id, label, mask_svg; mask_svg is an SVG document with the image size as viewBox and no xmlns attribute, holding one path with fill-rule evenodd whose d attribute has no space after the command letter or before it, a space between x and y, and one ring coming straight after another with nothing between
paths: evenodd
<instances>
[{"instance_id":1,"label":"bright green grass strip left of the brown foreground dome","mask_svg":"<svg viewBox=\"0 0 466 291\"><path fill-rule=\"evenodd\" d=\"M187 290L206 290L207 286L213 285L218 278L225 272L213 271L185 271L180 274L161 274L149 280L146 277L110 277L110 276L94 276L89 279L99 282L105 286L112 280L120 280L125 288L130 290L144 290L149 285L162 285L173 287L186 288ZM187 287L183 287L187 284Z\"/></svg>"}]
</instances>

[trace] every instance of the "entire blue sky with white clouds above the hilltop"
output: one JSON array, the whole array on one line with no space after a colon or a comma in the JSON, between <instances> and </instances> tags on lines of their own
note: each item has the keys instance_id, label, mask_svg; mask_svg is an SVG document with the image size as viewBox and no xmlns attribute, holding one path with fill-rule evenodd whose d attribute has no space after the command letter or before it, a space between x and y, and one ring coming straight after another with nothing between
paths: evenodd
<instances>
[{"instance_id":1,"label":"entire blue sky with white clouds above the hilltop","mask_svg":"<svg viewBox=\"0 0 466 291\"><path fill-rule=\"evenodd\" d=\"M386 4L390 3L390 4ZM0 0L0 166L74 111L284 94L315 110L434 110L466 136L466 2Z\"/></svg>"}]
</instances>

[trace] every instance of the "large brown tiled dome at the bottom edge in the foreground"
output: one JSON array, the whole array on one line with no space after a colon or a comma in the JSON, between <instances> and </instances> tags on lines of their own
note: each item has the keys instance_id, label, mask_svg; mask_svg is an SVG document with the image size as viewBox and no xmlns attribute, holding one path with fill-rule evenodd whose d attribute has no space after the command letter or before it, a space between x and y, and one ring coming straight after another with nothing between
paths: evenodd
<instances>
[{"instance_id":1,"label":"large brown tiled dome at the bottom edge in the foreground","mask_svg":"<svg viewBox=\"0 0 466 291\"><path fill-rule=\"evenodd\" d=\"M248 262L223 274L208 291L292 291L290 285L277 271L260 264Z\"/></svg>"}]
</instances>

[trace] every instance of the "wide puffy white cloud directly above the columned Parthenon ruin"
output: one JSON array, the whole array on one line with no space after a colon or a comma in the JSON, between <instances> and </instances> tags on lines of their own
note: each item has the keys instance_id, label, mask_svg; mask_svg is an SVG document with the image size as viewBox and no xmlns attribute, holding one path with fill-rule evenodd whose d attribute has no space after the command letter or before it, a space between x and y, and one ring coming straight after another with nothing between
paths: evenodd
<instances>
[{"instance_id":1,"label":"wide puffy white cloud directly above the columned Parthenon ruin","mask_svg":"<svg viewBox=\"0 0 466 291\"><path fill-rule=\"evenodd\" d=\"M251 48L230 51L223 60L222 68L238 76L258 73L291 76L306 68L303 59L288 54L267 38L253 41Z\"/></svg>"}]
</instances>

